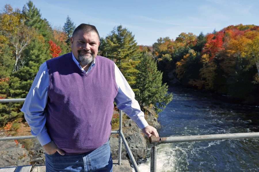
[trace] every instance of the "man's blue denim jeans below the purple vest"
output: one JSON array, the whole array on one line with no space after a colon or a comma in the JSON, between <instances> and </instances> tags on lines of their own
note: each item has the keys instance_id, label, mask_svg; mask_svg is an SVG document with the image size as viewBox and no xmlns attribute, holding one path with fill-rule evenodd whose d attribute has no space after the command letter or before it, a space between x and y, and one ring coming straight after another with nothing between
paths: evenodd
<instances>
[{"instance_id":1,"label":"man's blue denim jeans below the purple vest","mask_svg":"<svg viewBox=\"0 0 259 172\"><path fill-rule=\"evenodd\" d=\"M58 152L45 153L46 172L112 172L110 140L91 152L79 155L60 155Z\"/></svg>"}]
</instances>

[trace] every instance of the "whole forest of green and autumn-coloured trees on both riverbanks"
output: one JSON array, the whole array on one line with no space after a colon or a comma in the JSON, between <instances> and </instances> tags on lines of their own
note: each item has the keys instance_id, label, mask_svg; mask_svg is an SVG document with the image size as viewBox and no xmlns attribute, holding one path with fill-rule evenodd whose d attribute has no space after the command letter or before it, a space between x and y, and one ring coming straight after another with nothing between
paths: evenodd
<instances>
[{"instance_id":1,"label":"whole forest of green and autumn-coloured trees on both riverbanks","mask_svg":"<svg viewBox=\"0 0 259 172\"><path fill-rule=\"evenodd\" d=\"M6 4L0 13L0 99L25 98L39 66L71 52L75 24L51 27L32 1L22 8ZM98 29L98 28L97 28ZM141 108L159 113L172 100L168 86L205 89L237 99L259 102L259 26L228 26L196 36L181 33L138 45L134 34L115 26L101 38L99 54L113 60L135 92ZM24 120L22 103L0 104L0 126ZM12 123L13 124L13 123Z\"/></svg>"}]
</instances>

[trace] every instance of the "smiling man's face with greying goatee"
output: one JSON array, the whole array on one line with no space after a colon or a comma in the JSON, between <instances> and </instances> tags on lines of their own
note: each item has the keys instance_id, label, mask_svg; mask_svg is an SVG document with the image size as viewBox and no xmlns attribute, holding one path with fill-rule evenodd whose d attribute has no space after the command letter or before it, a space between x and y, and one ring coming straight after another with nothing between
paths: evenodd
<instances>
[{"instance_id":1,"label":"smiling man's face with greying goatee","mask_svg":"<svg viewBox=\"0 0 259 172\"><path fill-rule=\"evenodd\" d=\"M100 41L96 32L84 33L79 30L74 37L71 37L71 44L75 58L81 65L87 65L96 57Z\"/></svg>"}]
</instances>

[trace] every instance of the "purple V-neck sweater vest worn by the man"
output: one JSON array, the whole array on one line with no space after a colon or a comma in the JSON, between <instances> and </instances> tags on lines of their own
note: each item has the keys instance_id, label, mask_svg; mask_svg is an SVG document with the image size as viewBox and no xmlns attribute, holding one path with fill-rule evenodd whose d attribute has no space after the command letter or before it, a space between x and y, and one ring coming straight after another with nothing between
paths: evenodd
<instances>
[{"instance_id":1,"label":"purple V-neck sweater vest worn by the man","mask_svg":"<svg viewBox=\"0 0 259 172\"><path fill-rule=\"evenodd\" d=\"M49 136L68 155L102 146L111 133L113 101L118 93L114 62L96 56L96 64L86 74L68 53L47 60L47 68Z\"/></svg>"}]
</instances>

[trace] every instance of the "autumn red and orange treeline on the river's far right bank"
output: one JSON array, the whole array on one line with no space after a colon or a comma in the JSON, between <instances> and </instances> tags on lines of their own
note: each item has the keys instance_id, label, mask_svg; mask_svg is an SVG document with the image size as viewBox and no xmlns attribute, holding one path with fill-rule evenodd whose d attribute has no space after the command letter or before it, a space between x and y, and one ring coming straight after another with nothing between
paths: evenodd
<instances>
[{"instance_id":1,"label":"autumn red and orange treeline on the river's far right bank","mask_svg":"<svg viewBox=\"0 0 259 172\"><path fill-rule=\"evenodd\" d=\"M199 36L181 33L176 40L159 38L149 49L163 82L259 102L259 26L239 24Z\"/></svg>"}]
</instances>

